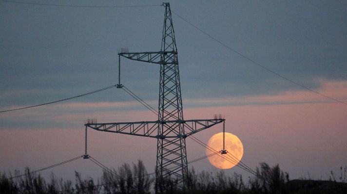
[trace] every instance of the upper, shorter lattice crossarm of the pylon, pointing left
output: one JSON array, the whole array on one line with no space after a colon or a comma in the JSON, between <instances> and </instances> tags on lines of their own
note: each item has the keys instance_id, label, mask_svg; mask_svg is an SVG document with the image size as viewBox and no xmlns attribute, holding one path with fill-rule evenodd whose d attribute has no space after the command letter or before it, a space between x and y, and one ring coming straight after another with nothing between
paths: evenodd
<instances>
[{"instance_id":1,"label":"upper, shorter lattice crossarm of the pylon, pointing left","mask_svg":"<svg viewBox=\"0 0 347 194\"><path fill-rule=\"evenodd\" d=\"M119 56L135 60L135 61L142 61L147 63L153 63L153 64L164 64L164 62L161 60L162 55L166 55L166 57L171 57L171 55L177 54L175 51L158 51L158 52L120 52L118 53ZM175 61L166 61L165 64L174 64Z\"/></svg>"}]
</instances>

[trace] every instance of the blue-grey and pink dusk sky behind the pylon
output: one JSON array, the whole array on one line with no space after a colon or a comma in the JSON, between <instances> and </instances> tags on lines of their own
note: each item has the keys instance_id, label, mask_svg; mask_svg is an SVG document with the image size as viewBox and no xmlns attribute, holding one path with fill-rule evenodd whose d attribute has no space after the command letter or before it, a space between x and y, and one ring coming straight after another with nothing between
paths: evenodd
<instances>
[{"instance_id":1,"label":"blue-grey and pink dusk sky behind the pylon","mask_svg":"<svg viewBox=\"0 0 347 194\"><path fill-rule=\"evenodd\" d=\"M44 0L20 2L47 3ZM64 7L0 1L0 111L73 97L118 81L120 48L159 51L162 1L51 0ZM347 103L347 1L170 1L171 10L251 60ZM185 119L225 115L242 141L242 162L279 163L290 178L338 177L347 165L347 105L255 65L173 13ZM158 107L159 65L121 58L121 83ZM39 169L84 154L84 122L157 117L121 89L0 113L0 171ZM195 135L207 143L222 125ZM108 167L142 160L155 168L156 140L89 130L88 154ZM222 145L222 143L221 143ZM222 147L221 147L222 148ZM205 148L187 139L188 161ZM190 164L216 170L207 159ZM42 172L97 178L77 160ZM240 168L225 170L245 177Z\"/></svg>"}]
</instances>

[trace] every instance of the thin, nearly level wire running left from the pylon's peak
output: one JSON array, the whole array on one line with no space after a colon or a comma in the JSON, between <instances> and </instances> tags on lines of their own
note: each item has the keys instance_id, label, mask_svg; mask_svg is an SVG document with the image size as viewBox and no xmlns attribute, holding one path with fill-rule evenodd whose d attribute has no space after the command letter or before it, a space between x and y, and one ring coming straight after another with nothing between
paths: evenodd
<instances>
[{"instance_id":1,"label":"thin, nearly level wire running left from the pylon's peak","mask_svg":"<svg viewBox=\"0 0 347 194\"><path fill-rule=\"evenodd\" d=\"M124 8L124 7L156 7L160 5L111 5L111 6L96 6L96 5L61 5L61 4L46 4L46 3L31 3L14 0L0 0L2 2L17 3L17 4L29 4L29 5L44 5L54 7L90 7L90 8Z\"/></svg>"}]
</instances>

